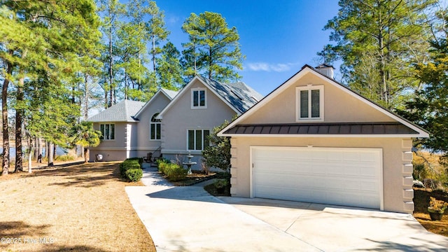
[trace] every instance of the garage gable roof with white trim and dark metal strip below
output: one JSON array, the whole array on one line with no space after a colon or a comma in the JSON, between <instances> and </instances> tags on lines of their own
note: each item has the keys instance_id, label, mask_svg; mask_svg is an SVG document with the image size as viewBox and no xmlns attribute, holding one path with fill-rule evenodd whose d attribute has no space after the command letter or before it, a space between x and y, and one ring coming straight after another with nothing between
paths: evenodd
<instances>
[{"instance_id":1,"label":"garage gable roof with white trim and dark metal strip below","mask_svg":"<svg viewBox=\"0 0 448 252\"><path fill-rule=\"evenodd\" d=\"M218 136L219 137L228 137L228 136L235 135L235 134L237 134L239 136L243 136L244 134L246 134L247 136L253 137L253 135L254 135L253 130L251 127L248 127L248 126L252 126L252 127L264 126L264 127L262 127L262 129L264 129L265 132L257 131L256 134L259 136L266 136L267 134L271 134L270 132L272 132L272 129L276 129L277 127L281 127L281 126L288 126L288 125L241 125L241 122L244 120L244 118L251 116L251 114L255 113L255 111L257 111L260 107L264 106L265 104L267 104L267 102L274 99L274 97L276 97L277 94L283 92L283 90L286 90L286 88L288 88L290 85L293 85L293 83L295 83L295 80L302 78L302 76L304 76L306 73L314 73L316 76L318 76L320 78L325 78L326 80L328 80L328 83L330 83L331 85L334 85L335 87L339 88L339 90L342 90L343 92L350 94L351 96L355 97L356 99L358 99L362 102L365 102L365 104L371 106L374 109L377 109L381 113L386 114L386 116L393 118L401 125L404 125L405 128L400 127L401 129L396 130L396 131L386 130L382 134L374 134L373 131L357 132L356 130L353 130L353 131L349 130L349 132L347 132L347 134L340 134L339 132L337 132L337 133L336 132L332 132L332 133L327 132L326 134L313 134L311 132L307 132L306 134L299 134L299 132L297 130L297 132L295 132L295 134L291 134L289 131L287 134L283 134L281 132L276 132L276 134L273 134L273 136L278 137L279 135L285 135L285 136L295 136L295 137L309 137L310 135L312 135L315 137L328 137L328 135L332 135L335 137L342 137L342 136L346 137L349 135L353 135L353 137L356 137L356 135L359 136L360 134L363 134L363 135L370 134L372 136L380 136L381 135L381 136L386 136L386 137L394 137L396 135L406 135L407 137L428 137L428 132L423 130L421 127L414 125L414 123L409 122L405 118L402 118L401 116L398 116L395 113L388 111L387 109L384 109L382 106L379 106L379 104L376 104L376 103L370 101L370 99L367 99L367 98L361 96L360 94L353 92L353 90L350 90L348 87L342 85L341 83L338 83L333 78L325 76L325 74L319 72L317 69L314 69L314 67L309 66L307 64L302 66L302 69L300 69L300 71L295 73L295 75L290 77L283 84L279 85L279 87L277 87L274 91L267 94L267 96L265 98L263 98L260 102L258 102L258 104L255 104L255 106L253 106L251 109L248 109L248 111L246 111L246 113L243 113L241 116L239 116L239 118L237 118L232 123L230 123L227 127L225 127L223 130L221 130L221 132L218 132ZM381 125L381 127L385 127L385 128L386 128L386 124L387 123L379 123L379 125ZM309 126L309 123L302 123L302 124L295 123L293 125ZM324 124L321 124L321 125L324 125ZM344 126L344 123L342 123L342 124L339 123L338 125L335 125L335 126L341 127L341 126ZM391 127L387 127L387 128L393 129ZM267 129L269 129L269 130L267 130ZM286 128L283 127L283 131L285 129ZM302 129L304 129L304 127L302 127ZM307 130L309 130L309 127L307 128ZM318 132L318 130L321 130L321 127L314 125L313 131L314 130L317 130L317 132ZM247 132L247 133L245 133L245 132ZM357 133L353 133L353 132L357 132Z\"/></svg>"}]
</instances>

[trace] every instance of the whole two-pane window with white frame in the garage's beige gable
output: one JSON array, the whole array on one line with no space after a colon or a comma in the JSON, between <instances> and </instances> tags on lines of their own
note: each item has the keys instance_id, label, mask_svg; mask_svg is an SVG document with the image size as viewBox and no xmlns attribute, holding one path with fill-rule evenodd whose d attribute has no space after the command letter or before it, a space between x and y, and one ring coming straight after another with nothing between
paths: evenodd
<instances>
[{"instance_id":1,"label":"whole two-pane window with white frame in the garage's beige gable","mask_svg":"<svg viewBox=\"0 0 448 252\"><path fill-rule=\"evenodd\" d=\"M323 85L296 87L297 121L323 121Z\"/></svg>"}]
</instances>

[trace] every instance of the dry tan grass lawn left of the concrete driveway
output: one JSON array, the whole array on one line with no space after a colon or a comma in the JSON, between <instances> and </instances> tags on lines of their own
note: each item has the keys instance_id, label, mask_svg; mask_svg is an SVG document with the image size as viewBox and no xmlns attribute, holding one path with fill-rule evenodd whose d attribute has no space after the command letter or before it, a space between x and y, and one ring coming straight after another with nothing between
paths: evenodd
<instances>
[{"instance_id":1,"label":"dry tan grass lawn left of the concrete driveway","mask_svg":"<svg viewBox=\"0 0 448 252\"><path fill-rule=\"evenodd\" d=\"M0 251L155 251L125 186L118 162L0 176Z\"/></svg>"}]
</instances>

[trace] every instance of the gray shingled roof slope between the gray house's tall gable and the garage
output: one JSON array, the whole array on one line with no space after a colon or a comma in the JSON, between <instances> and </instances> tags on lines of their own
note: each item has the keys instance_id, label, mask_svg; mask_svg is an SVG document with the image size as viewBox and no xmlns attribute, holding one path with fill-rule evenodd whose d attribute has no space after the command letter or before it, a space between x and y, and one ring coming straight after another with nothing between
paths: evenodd
<instances>
[{"instance_id":1,"label":"gray shingled roof slope between the gray house's tall gable and the garage","mask_svg":"<svg viewBox=\"0 0 448 252\"><path fill-rule=\"evenodd\" d=\"M207 83L210 87L214 89L223 99L225 99L229 104L231 104L240 113L246 112L251 106L255 105L263 96L253 90L245 83L220 83L216 80L210 80L202 76L201 78L204 83Z\"/></svg>"}]
</instances>

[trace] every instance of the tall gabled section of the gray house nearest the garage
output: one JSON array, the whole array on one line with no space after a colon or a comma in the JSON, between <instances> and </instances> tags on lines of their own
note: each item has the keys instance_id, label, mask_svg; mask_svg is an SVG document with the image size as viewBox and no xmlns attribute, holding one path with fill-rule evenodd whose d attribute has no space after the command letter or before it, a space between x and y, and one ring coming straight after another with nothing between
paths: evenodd
<instances>
[{"instance_id":1,"label":"tall gabled section of the gray house nearest the garage","mask_svg":"<svg viewBox=\"0 0 448 252\"><path fill-rule=\"evenodd\" d=\"M190 153L200 169L201 153L209 146L213 128L241 115L256 104L262 95L248 85L220 83L195 76L160 112L162 154L176 160Z\"/></svg>"}]
</instances>

